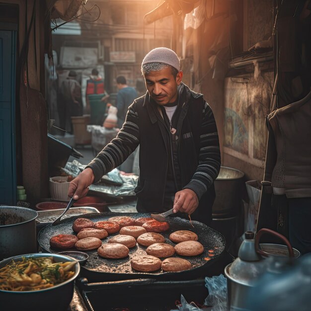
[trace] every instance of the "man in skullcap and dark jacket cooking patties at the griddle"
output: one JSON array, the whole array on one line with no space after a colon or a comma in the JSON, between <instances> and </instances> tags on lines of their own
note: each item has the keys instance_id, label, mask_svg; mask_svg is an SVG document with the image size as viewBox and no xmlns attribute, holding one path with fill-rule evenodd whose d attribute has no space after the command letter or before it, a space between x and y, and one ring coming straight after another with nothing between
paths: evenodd
<instances>
[{"instance_id":1,"label":"man in skullcap and dark jacket cooking patties at the griddle","mask_svg":"<svg viewBox=\"0 0 311 311\"><path fill-rule=\"evenodd\" d=\"M213 112L202 94L182 82L179 59L167 48L150 51L142 62L147 93L129 107L123 128L75 178L74 199L120 165L140 146L137 211L178 216L205 224L212 220L214 180L221 156Z\"/></svg>"}]
</instances>

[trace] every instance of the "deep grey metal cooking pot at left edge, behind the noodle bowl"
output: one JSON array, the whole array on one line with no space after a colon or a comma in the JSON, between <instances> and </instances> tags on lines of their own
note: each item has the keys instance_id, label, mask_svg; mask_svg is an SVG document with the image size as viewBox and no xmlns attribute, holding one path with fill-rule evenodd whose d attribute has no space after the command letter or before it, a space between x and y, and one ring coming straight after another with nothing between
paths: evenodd
<instances>
[{"instance_id":1,"label":"deep grey metal cooking pot at left edge, behind the noodle bowl","mask_svg":"<svg viewBox=\"0 0 311 311\"><path fill-rule=\"evenodd\" d=\"M37 217L26 207L0 206L0 259L37 251Z\"/></svg>"}]
</instances>

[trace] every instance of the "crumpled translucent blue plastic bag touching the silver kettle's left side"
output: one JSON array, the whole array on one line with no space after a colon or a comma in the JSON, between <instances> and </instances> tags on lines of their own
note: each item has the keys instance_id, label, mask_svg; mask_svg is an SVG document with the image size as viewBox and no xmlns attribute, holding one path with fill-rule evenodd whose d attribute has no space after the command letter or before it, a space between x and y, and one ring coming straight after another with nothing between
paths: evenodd
<instances>
[{"instance_id":1,"label":"crumpled translucent blue plastic bag touching the silver kettle's left side","mask_svg":"<svg viewBox=\"0 0 311 311\"><path fill-rule=\"evenodd\" d=\"M209 295L204 305L212 306L211 311L227 311L227 279L223 274L205 278L205 287Z\"/></svg>"}]
</instances>

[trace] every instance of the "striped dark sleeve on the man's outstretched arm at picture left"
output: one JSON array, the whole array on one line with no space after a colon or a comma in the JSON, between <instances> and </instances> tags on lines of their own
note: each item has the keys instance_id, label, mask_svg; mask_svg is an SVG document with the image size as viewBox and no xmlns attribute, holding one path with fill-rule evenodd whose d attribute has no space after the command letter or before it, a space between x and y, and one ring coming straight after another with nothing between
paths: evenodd
<instances>
[{"instance_id":1,"label":"striped dark sleeve on the man's outstretched arm at picture left","mask_svg":"<svg viewBox=\"0 0 311 311\"><path fill-rule=\"evenodd\" d=\"M93 170L94 182L122 164L139 145L140 134L138 127L138 113L134 103L129 107L126 120L117 137L86 166Z\"/></svg>"}]
</instances>

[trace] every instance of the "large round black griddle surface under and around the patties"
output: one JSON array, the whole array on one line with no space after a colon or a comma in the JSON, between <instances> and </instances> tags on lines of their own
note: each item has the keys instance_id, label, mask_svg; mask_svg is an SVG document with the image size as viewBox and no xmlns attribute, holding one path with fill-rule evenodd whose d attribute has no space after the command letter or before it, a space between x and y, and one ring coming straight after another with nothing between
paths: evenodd
<instances>
[{"instance_id":1,"label":"large round black griddle surface under and around the patties","mask_svg":"<svg viewBox=\"0 0 311 311\"><path fill-rule=\"evenodd\" d=\"M56 234L76 234L74 233L72 226L74 221L78 217L83 217L92 220L93 222L106 221L110 217L115 216L129 216L134 219L140 217L150 217L150 214L143 213L94 213L94 214L83 214L71 218L64 219L61 224L57 226L47 226L43 228L38 235L39 245L43 250L51 253L58 253L65 249L53 249L50 247L50 238ZM105 259L97 254L97 250L85 251L89 258L81 267L81 276L86 277L89 281L116 281L126 279L138 279L138 278L156 278L161 280L172 280L172 279L192 279L194 275L201 275L201 268L207 268L213 262L217 261L219 256L225 250L225 238L224 236L213 230L212 228L196 221L192 221L194 228L191 226L188 220L179 217L167 217L167 222L170 225L170 229L165 233L161 233L165 237L165 242L171 245L175 243L171 242L169 234L177 230L189 230L198 234L199 242L204 246L204 252L199 256L185 257L174 255L187 259L191 262L193 269L181 271L181 272L164 272L157 270L155 272L139 272L131 268L130 260L135 256L146 255L146 247L137 244L135 247L130 248L129 256L121 259ZM103 242L107 242L109 238L115 236L118 233L109 235ZM69 249L68 249L69 250ZM74 250L73 248L70 250ZM76 249L75 249L76 250ZM210 256L211 252L214 256ZM164 258L162 258L164 259Z\"/></svg>"}]
</instances>

